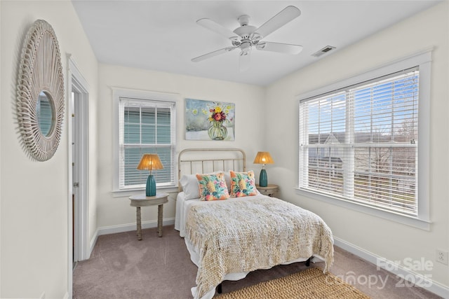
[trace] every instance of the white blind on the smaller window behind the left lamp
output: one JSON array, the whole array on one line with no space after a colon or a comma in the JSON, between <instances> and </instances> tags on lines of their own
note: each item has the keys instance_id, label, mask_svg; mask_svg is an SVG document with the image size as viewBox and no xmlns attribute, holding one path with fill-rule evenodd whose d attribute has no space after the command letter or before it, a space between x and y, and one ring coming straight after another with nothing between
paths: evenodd
<instances>
[{"instance_id":1,"label":"white blind on the smaller window behind the left lamp","mask_svg":"<svg viewBox=\"0 0 449 299\"><path fill-rule=\"evenodd\" d=\"M119 188L145 188L149 172L136 169L144 153L157 153L163 169L156 186L175 186L175 102L119 98Z\"/></svg>"}]
</instances>

